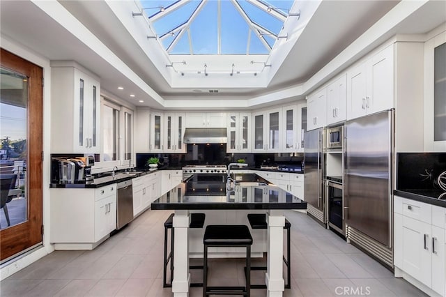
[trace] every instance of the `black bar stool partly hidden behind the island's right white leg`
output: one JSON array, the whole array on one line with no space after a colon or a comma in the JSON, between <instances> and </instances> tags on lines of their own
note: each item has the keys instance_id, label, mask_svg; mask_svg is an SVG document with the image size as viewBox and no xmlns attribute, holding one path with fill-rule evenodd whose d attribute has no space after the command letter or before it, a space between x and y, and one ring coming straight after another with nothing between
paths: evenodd
<instances>
[{"instance_id":1,"label":"black bar stool partly hidden behind the island's right white leg","mask_svg":"<svg viewBox=\"0 0 446 297\"><path fill-rule=\"evenodd\" d=\"M249 213L247 215L249 224L251 225L252 229L268 229L268 224L266 223L266 214L265 213ZM289 220L286 220L285 218L285 226L284 229L286 229L286 258L284 256L284 264L286 265L286 289L291 289L291 223ZM266 271L266 266L254 266L251 267L251 270L253 271ZM266 289L266 284L252 284L252 289Z\"/></svg>"}]
</instances>

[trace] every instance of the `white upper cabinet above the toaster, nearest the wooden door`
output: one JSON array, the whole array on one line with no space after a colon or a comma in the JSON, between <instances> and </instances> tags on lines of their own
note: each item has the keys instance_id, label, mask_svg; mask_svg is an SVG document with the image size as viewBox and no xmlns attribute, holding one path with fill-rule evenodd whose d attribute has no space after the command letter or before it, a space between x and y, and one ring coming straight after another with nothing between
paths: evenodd
<instances>
[{"instance_id":1,"label":"white upper cabinet above the toaster, nearest the wooden door","mask_svg":"<svg viewBox=\"0 0 446 297\"><path fill-rule=\"evenodd\" d=\"M52 62L52 153L100 153L100 83L74 62Z\"/></svg>"}]
</instances>

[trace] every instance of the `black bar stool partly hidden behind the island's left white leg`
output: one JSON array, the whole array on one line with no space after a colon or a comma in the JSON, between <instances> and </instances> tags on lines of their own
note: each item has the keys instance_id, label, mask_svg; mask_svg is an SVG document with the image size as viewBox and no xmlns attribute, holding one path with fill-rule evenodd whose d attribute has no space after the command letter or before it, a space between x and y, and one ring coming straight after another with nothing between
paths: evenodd
<instances>
[{"instance_id":1,"label":"black bar stool partly hidden behind the island's left white leg","mask_svg":"<svg viewBox=\"0 0 446 297\"><path fill-rule=\"evenodd\" d=\"M203 228L206 215L204 213L191 213L189 228ZM163 274L162 274L162 287L172 287L172 280L174 279L174 237L175 229L173 226L174 213L169 215L166 222L164 222L164 262L163 262ZM170 252L167 254L167 231L171 229L170 234ZM170 262L170 282L167 282L167 265ZM189 269L203 269L203 266L189 266ZM203 287L201 282L193 282L190 287Z\"/></svg>"}]
</instances>

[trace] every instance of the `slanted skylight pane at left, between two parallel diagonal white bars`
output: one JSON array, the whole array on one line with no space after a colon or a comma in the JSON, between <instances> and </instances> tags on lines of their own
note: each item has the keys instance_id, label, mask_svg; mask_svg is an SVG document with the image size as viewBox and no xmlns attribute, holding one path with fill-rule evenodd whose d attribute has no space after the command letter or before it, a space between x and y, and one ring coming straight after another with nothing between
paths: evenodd
<instances>
[{"instance_id":1,"label":"slanted skylight pane at left, between two parallel diagonal white bars","mask_svg":"<svg viewBox=\"0 0 446 297\"><path fill-rule=\"evenodd\" d=\"M162 36L165 33L169 33L181 24L184 24L187 20L189 20L199 3L200 1L190 1L185 3L177 10L167 13L163 17L160 17L160 19L156 20L156 22L153 22L153 28L155 29L157 35ZM164 13L166 13L166 11L164 11Z\"/></svg>"}]
</instances>

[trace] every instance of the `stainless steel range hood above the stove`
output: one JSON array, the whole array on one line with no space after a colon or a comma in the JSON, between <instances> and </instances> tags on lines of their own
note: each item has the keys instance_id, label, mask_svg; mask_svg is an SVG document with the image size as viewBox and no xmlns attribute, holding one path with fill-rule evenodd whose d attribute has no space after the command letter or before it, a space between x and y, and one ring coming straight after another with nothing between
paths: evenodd
<instances>
[{"instance_id":1,"label":"stainless steel range hood above the stove","mask_svg":"<svg viewBox=\"0 0 446 297\"><path fill-rule=\"evenodd\" d=\"M226 144L226 128L186 128L185 144Z\"/></svg>"}]
</instances>

